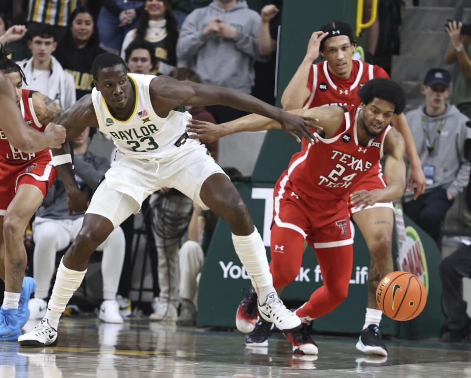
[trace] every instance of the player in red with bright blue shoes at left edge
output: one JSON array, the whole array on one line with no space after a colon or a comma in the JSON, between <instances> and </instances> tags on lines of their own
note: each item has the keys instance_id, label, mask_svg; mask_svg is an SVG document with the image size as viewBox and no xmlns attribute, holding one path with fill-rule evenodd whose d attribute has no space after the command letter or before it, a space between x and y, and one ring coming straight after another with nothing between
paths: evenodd
<instances>
[{"instance_id":1,"label":"player in red with bright blue shoes at left edge","mask_svg":"<svg viewBox=\"0 0 471 378\"><path fill-rule=\"evenodd\" d=\"M59 105L39 92L22 89L24 74L15 62L6 58L3 48L0 50L0 71L13 83L15 107L21 112L27 129L37 130L34 134L39 135L40 142L45 125L56 121L62 114ZM25 152L14 147L7 136L9 134L0 129L0 278L5 281L0 308L0 339L16 340L29 317L29 296L36 287L32 277L23 277L26 268L23 235L57 172L52 165L51 150L47 147L50 143L38 143L42 151L28 148L29 151ZM60 140L63 139L65 134ZM52 147L55 146L53 143Z\"/></svg>"}]
</instances>

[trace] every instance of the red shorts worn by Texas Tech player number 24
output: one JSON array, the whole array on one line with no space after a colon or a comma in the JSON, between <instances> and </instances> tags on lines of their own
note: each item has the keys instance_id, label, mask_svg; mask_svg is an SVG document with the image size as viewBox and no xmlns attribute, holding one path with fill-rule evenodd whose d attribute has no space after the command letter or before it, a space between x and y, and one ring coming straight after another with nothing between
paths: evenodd
<instances>
[{"instance_id":1,"label":"red shorts worn by Texas Tech player number 24","mask_svg":"<svg viewBox=\"0 0 471 378\"><path fill-rule=\"evenodd\" d=\"M353 244L346 200L311 198L286 174L276 183L273 196L273 222L299 232L314 249Z\"/></svg>"}]
</instances>

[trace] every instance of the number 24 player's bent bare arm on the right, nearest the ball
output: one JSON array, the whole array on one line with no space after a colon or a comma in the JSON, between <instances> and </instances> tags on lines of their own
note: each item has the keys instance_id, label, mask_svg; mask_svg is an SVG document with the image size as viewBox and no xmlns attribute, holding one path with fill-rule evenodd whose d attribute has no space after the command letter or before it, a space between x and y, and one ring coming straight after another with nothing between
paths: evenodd
<instances>
[{"instance_id":1,"label":"number 24 player's bent bare arm on the right, nearest the ball","mask_svg":"<svg viewBox=\"0 0 471 378\"><path fill-rule=\"evenodd\" d=\"M391 202L402 197L406 187L405 144L402 135L392 128L384 141L386 187L372 191L358 190L350 195L350 202L365 207L376 202Z\"/></svg>"}]
</instances>

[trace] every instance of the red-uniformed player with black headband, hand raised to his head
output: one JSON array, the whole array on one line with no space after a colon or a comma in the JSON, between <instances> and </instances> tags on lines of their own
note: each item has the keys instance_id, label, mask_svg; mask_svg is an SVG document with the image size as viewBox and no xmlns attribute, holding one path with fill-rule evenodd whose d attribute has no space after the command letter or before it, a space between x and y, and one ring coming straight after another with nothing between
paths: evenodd
<instances>
[{"instance_id":1,"label":"red-uniformed player with black headband, hand raised to his head","mask_svg":"<svg viewBox=\"0 0 471 378\"><path fill-rule=\"evenodd\" d=\"M350 25L334 21L320 28L312 35L306 57L302 61L295 75L283 93L281 102L284 109L306 109L322 105L358 105L358 90L373 77L389 77L378 66L362 61L353 60L355 50L353 31ZM324 61L313 64L320 54ZM305 88L300 90L300 88ZM415 199L425 190L425 176L422 172L419 156L416 151L414 139L407 124L404 113L395 114L392 126L404 137L406 154L411 161L411 175L407 190L417 184ZM303 147L306 143L303 142ZM384 187L381 175L381 165L377 162L375 169L369 171L361 183L352 186L351 190L372 190ZM360 211L363 210L363 211ZM366 245L371 256L368 271L368 302L365 323L363 325L357 349L365 353L378 353L387 355L378 332L382 312L376 304L375 291L381 277L393 270L392 263L392 227L394 216L392 203L377 203L373 207L359 209L350 207L353 221L360 228L365 237ZM366 339L372 345L367 345ZM370 348L371 347L371 348Z\"/></svg>"}]
</instances>

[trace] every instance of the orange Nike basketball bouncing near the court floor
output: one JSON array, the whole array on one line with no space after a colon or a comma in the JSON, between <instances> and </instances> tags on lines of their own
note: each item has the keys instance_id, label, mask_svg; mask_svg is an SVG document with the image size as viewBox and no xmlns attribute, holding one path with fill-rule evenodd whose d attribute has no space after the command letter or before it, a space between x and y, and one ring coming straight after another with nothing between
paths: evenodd
<instances>
[{"instance_id":1,"label":"orange Nike basketball bouncing near the court floor","mask_svg":"<svg viewBox=\"0 0 471 378\"><path fill-rule=\"evenodd\" d=\"M412 273L392 272L379 282L376 302L387 317L402 322L422 312L427 292L422 281Z\"/></svg>"}]
</instances>

